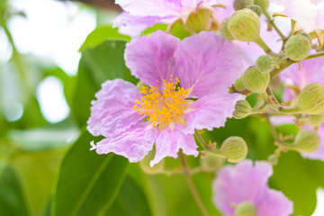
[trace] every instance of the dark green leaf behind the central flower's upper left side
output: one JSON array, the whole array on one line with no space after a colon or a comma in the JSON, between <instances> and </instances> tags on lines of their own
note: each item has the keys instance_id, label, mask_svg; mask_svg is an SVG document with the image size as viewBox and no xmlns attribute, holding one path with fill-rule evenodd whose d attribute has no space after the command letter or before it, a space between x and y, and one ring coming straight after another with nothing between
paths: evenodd
<instances>
[{"instance_id":1,"label":"dark green leaf behind the central flower's upper left side","mask_svg":"<svg viewBox=\"0 0 324 216\"><path fill-rule=\"evenodd\" d=\"M125 66L125 45L124 41L105 41L94 49L83 52L77 72L76 94L71 106L80 128L85 126L90 116L90 103L104 81L122 78L133 84L138 82Z\"/></svg>"}]
</instances>

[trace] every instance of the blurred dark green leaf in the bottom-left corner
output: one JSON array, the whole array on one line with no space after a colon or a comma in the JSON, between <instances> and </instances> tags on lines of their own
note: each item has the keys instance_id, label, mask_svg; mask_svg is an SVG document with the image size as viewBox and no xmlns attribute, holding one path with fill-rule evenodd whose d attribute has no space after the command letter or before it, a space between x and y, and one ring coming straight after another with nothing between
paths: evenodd
<instances>
[{"instance_id":1,"label":"blurred dark green leaf in the bottom-left corner","mask_svg":"<svg viewBox=\"0 0 324 216\"><path fill-rule=\"evenodd\" d=\"M0 165L4 166L4 165ZM0 172L0 215L31 215L24 200L22 185L12 166Z\"/></svg>"}]
</instances>

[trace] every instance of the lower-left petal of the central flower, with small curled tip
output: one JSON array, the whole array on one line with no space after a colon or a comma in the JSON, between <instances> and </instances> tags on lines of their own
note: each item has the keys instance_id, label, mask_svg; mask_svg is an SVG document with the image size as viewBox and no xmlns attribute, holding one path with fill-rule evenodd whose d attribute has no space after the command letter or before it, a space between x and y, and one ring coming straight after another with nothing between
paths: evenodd
<instances>
[{"instance_id":1,"label":"lower-left petal of the central flower, with small curled tip","mask_svg":"<svg viewBox=\"0 0 324 216\"><path fill-rule=\"evenodd\" d=\"M142 160L153 148L158 130L152 128L148 122L140 122L114 138L105 138L96 145L92 142L92 149L98 154L115 153L127 157L130 162Z\"/></svg>"}]
</instances>

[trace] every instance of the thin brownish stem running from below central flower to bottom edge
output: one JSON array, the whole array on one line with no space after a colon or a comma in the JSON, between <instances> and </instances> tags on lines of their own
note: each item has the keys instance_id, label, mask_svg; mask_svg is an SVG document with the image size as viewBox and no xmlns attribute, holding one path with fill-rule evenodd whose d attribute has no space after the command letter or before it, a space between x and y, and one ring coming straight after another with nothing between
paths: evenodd
<instances>
[{"instance_id":1,"label":"thin brownish stem running from below central flower to bottom edge","mask_svg":"<svg viewBox=\"0 0 324 216\"><path fill-rule=\"evenodd\" d=\"M191 193L193 194L193 198L194 198L195 202L197 202L200 210L202 211L202 215L209 216L209 213L206 210L206 208L204 207L203 202L197 192L197 189L195 188L195 186L193 184L193 179L192 179L192 176L190 175L189 167L185 162L184 153L182 151L179 151L179 156L181 159L181 164L184 166L184 177L185 177L186 182L188 183Z\"/></svg>"}]
</instances>

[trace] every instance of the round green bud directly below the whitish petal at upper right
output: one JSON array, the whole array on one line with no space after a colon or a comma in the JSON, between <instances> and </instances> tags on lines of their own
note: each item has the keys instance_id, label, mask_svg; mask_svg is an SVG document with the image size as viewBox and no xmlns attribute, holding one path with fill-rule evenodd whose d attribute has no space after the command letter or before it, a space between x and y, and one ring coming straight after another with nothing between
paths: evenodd
<instances>
[{"instance_id":1,"label":"round green bud directly below the whitish petal at upper right","mask_svg":"<svg viewBox=\"0 0 324 216\"><path fill-rule=\"evenodd\" d=\"M287 58L295 61L301 61L308 57L311 51L311 41L303 35L294 35L287 40L284 53Z\"/></svg>"}]
</instances>

